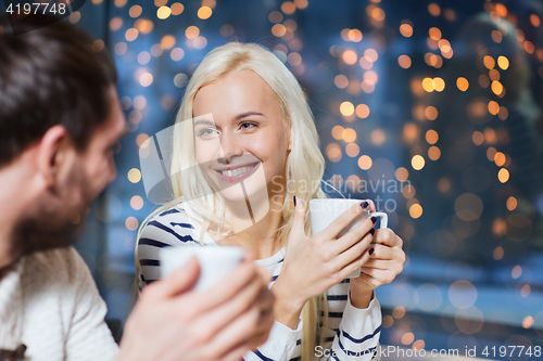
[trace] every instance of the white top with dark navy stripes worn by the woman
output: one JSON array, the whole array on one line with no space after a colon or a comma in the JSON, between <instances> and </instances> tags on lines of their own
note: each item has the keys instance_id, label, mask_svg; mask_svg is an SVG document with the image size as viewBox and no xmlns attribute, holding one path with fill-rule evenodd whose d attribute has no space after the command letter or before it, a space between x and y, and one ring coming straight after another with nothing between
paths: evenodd
<instances>
[{"instance_id":1,"label":"white top with dark navy stripes worn by the woman","mask_svg":"<svg viewBox=\"0 0 543 361\"><path fill-rule=\"evenodd\" d=\"M148 222L138 243L140 289L160 278L159 250L162 247L178 246L198 241L201 228L192 219L200 219L187 203L155 215ZM204 245L215 244L204 233ZM269 287L281 272L285 248L276 255L256 260L258 266L272 274ZM315 360L372 360L377 358L381 330L381 309L374 297L367 309L351 305L349 279L328 289L328 327L324 332L321 348L315 349ZM255 351L248 352L244 361L296 361L302 354L302 321L296 330L275 322L267 341Z\"/></svg>"}]
</instances>

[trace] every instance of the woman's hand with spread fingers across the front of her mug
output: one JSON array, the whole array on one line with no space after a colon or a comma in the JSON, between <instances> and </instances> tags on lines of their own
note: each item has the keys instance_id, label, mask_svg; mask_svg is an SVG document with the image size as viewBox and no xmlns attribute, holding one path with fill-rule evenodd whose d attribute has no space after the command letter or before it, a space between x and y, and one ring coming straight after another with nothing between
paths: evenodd
<instances>
[{"instance_id":1,"label":"woman's hand with spread fingers across the front of her mug","mask_svg":"<svg viewBox=\"0 0 543 361\"><path fill-rule=\"evenodd\" d=\"M324 231L307 237L304 231L305 206L296 198L294 218L281 273L272 291L276 296L276 320L296 328L305 302L338 284L368 259L374 221L368 218L340 238L337 235L369 206L354 205Z\"/></svg>"}]
</instances>

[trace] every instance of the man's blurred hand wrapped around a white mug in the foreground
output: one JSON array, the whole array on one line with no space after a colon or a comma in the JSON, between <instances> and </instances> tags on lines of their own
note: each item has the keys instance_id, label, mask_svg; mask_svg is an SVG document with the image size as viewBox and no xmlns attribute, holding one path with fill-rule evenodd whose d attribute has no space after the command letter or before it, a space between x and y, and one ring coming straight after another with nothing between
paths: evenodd
<instances>
[{"instance_id":1,"label":"man's blurred hand wrapped around a white mug in the foreground","mask_svg":"<svg viewBox=\"0 0 543 361\"><path fill-rule=\"evenodd\" d=\"M274 324L269 274L245 259L219 284L192 292L193 258L141 292L117 361L233 361L263 344Z\"/></svg>"}]
</instances>

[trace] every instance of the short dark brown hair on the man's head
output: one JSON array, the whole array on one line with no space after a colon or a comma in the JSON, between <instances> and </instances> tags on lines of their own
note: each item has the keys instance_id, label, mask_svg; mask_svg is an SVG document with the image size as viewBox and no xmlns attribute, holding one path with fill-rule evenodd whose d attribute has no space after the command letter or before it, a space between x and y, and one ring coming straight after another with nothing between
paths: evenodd
<instances>
[{"instance_id":1,"label":"short dark brown hair on the man's head","mask_svg":"<svg viewBox=\"0 0 543 361\"><path fill-rule=\"evenodd\" d=\"M0 31L0 167L55 125L84 151L110 114L117 78L111 54L70 23L50 23L28 15Z\"/></svg>"}]
</instances>

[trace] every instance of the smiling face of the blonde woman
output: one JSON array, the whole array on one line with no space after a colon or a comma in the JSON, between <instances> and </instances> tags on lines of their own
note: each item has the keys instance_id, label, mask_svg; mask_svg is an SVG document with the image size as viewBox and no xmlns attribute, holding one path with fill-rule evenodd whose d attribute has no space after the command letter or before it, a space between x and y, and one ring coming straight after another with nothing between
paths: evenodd
<instances>
[{"instance_id":1,"label":"smiling face of the blonde woman","mask_svg":"<svg viewBox=\"0 0 543 361\"><path fill-rule=\"evenodd\" d=\"M193 103L197 160L229 201L266 197L285 176L290 129L272 88L254 72L231 72Z\"/></svg>"}]
</instances>

